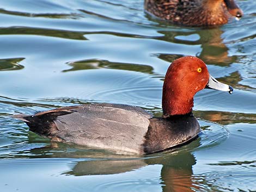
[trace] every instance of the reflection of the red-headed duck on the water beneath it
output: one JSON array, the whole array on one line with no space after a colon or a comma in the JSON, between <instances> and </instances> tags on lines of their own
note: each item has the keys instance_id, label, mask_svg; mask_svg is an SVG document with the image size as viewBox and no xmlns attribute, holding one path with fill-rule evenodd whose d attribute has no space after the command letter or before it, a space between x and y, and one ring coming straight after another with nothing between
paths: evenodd
<instances>
[{"instance_id":1,"label":"reflection of the red-headed duck on the water beneath it","mask_svg":"<svg viewBox=\"0 0 256 192\"><path fill-rule=\"evenodd\" d=\"M199 146L199 139L191 143L192 147ZM184 150L185 148L185 150ZM111 175L136 171L143 166L162 165L161 184L162 191L193 191L196 188L193 179L192 166L196 164L193 154L187 150L187 146L179 152L162 153L159 157L127 158L107 160L87 160L75 162L71 165L71 171L66 175L89 176Z\"/></svg>"}]
</instances>

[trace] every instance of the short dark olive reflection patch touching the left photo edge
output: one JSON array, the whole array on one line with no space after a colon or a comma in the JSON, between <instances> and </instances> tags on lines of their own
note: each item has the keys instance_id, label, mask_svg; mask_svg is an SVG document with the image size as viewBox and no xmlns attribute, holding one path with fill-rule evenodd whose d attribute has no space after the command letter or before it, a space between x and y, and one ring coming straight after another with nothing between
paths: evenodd
<instances>
[{"instance_id":1,"label":"short dark olive reflection patch touching the left photo edge","mask_svg":"<svg viewBox=\"0 0 256 192\"><path fill-rule=\"evenodd\" d=\"M24 66L19 64L23 59L25 58L0 59L0 71L23 69Z\"/></svg>"}]
</instances>

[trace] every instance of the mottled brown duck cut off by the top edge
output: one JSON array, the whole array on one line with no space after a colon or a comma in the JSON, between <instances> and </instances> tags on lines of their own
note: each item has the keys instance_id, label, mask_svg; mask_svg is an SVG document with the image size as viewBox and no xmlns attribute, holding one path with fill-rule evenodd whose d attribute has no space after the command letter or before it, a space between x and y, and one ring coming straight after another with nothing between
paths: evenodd
<instances>
[{"instance_id":1,"label":"mottled brown duck cut off by the top edge","mask_svg":"<svg viewBox=\"0 0 256 192\"><path fill-rule=\"evenodd\" d=\"M242 10L235 0L145 0L147 13L191 27L220 26L231 16L240 19Z\"/></svg>"}]
</instances>

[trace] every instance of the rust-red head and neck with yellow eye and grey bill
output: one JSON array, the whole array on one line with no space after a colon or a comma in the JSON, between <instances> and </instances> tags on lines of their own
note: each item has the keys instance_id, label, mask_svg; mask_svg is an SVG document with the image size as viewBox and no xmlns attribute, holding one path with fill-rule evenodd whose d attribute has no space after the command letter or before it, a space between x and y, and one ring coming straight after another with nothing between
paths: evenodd
<instances>
[{"instance_id":1,"label":"rust-red head and neck with yellow eye and grey bill","mask_svg":"<svg viewBox=\"0 0 256 192\"><path fill-rule=\"evenodd\" d=\"M204 61L197 57L188 56L174 60L163 83L163 117L192 112L194 95L209 83L214 85L211 89L233 91L231 86L211 77Z\"/></svg>"}]
</instances>

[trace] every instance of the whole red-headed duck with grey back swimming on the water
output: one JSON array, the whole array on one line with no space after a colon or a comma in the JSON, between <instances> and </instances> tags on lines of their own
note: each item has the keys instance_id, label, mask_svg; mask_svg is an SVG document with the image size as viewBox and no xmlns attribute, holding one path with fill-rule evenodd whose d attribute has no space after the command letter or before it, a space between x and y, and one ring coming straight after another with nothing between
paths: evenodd
<instances>
[{"instance_id":1,"label":"whole red-headed duck with grey back swimming on the water","mask_svg":"<svg viewBox=\"0 0 256 192\"><path fill-rule=\"evenodd\" d=\"M204 88L233 91L209 75L196 57L182 57L169 66L163 83L162 117L124 104L83 104L34 115L14 115L32 132L52 141L104 148L121 154L168 150L190 142L201 129L192 114L193 96Z\"/></svg>"}]
</instances>

